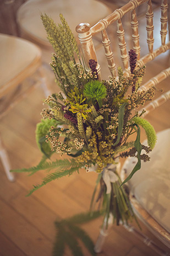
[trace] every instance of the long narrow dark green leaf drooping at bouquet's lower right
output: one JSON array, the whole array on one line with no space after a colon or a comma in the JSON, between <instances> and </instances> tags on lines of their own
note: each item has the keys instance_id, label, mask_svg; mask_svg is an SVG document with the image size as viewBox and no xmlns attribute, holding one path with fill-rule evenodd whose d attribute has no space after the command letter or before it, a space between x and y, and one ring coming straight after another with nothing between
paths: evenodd
<instances>
[{"instance_id":1,"label":"long narrow dark green leaf drooping at bouquet's lower right","mask_svg":"<svg viewBox=\"0 0 170 256\"><path fill-rule=\"evenodd\" d=\"M138 128L136 140L135 140L135 143L134 143L136 151L138 152L138 155L137 155L138 162L136 163L135 167L133 168L133 170L131 171L129 176L124 180L124 182L120 186L122 186L124 183L128 182L131 179L131 177L134 175L134 173L137 172L137 170L139 170L140 167L141 167L140 153L141 153L141 150L142 150L142 145L140 143L140 127L137 124L135 124L135 125Z\"/></svg>"}]
</instances>

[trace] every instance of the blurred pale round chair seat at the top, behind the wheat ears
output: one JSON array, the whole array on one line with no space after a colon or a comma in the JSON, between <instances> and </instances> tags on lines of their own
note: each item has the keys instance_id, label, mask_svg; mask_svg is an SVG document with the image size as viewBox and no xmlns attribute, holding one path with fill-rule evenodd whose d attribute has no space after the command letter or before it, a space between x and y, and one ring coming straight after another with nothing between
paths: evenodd
<instances>
[{"instance_id":1,"label":"blurred pale round chair seat at the top, behind the wheat ears","mask_svg":"<svg viewBox=\"0 0 170 256\"><path fill-rule=\"evenodd\" d=\"M75 36L76 25L82 22L94 25L111 11L104 4L94 0L29 0L18 10L17 19L21 30L32 35L35 39L49 44L43 28L40 14L46 13L54 22L61 23L59 14L62 13Z\"/></svg>"}]
</instances>

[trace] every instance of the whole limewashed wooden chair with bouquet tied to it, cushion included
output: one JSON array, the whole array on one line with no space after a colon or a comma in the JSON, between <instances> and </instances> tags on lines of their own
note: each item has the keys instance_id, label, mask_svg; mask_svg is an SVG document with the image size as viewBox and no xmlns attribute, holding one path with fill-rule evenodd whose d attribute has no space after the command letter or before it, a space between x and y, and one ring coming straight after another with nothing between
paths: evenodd
<instances>
[{"instance_id":1,"label":"whole limewashed wooden chair with bouquet tied to it, cushion included","mask_svg":"<svg viewBox=\"0 0 170 256\"><path fill-rule=\"evenodd\" d=\"M155 1L154 1L155 2ZM139 24L138 18L136 13L138 13L138 7L141 5L146 7L146 42L144 41L145 35L144 31L139 31ZM81 51L83 52L83 57L85 60L86 70L89 71L89 60L92 58L97 61L97 72L99 74L100 79L103 78L103 75L107 73L106 66L109 69L112 77L117 77L117 67L120 66L120 61L122 61L124 74L129 74L129 57L128 57L128 49L127 44L125 42L125 31L123 26L123 18L125 15L129 15L131 19L131 42L133 44L133 49L138 54L138 65L142 67L143 65L147 64L150 69L152 70L152 74L154 77L151 77L149 81L144 81L145 83L140 87L140 90L147 90L151 86L157 86L158 83L162 82L164 79L168 78L170 75L170 67L169 67L169 59L165 52L170 49L170 42L167 37L167 25L168 25L168 17L167 17L167 9L168 3L167 0L162 0L160 4L160 21L155 21L156 25L156 34L153 37L153 10L152 10L152 1L145 1L145 0L131 0L123 7L115 10L111 15L108 17L101 19L98 23L94 26L90 26L87 23L81 23L76 26L76 31L79 35L79 40L81 44ZM108 26L111 24L117 23L117 40L116 38L112 38L112 41L109 40L107 31ZM159 25L159 28L158 28ZM160 39L157 39L157 29L160 29ZM105 49L106 55L106 63L107 65L102 64L100 66L100 59L97 58L95 45L92 41L94 35L98 35L101 33L102 37L102 44L103 48ZM142 36L142 44L140 45L139 35ZM155 45L153 45L155 39ZM118 42L118 47L116 44ZM120 51L120 58L118 58L115 51L112 51L111 46L113 46L113 50L116 48ZM146 46L148 50L146 49ZM148 51L148 53L146 53ZM114 57L116 61L114 61ZM155 69L154 66L154 59L160 58L161 61L167 63L166 70L158 70ZM152 62L151 62L152 61ZM102 68L101 68L102 67ZM104 72L103 72L104 67ZM146 71L147 72L147 71ZM161 94L156 100L154 100L149 105L145 106L144 109L146 113L149 113L151 110L155 109L157 106L167 102L170 99L170 90L169 88L165 88L165 93ZM169 116L167 116L169 119ZM170 124L169 124L170 125ZM135 196L136 201L134 198L131 198L132 204L136 207L136 212L139 209L142 209L138 212L141 215L142 211L146 211L147 213L144 214L141 218L144 220L144 223L147 223L147 226L152 226L154 230L153 233L157 234L157 237L161 239L161 241L166 244L167 247L170 247L170 236L169 236L169 216L170 216L170 209L169 209L169 166L168 166L168 155L169 155L169 130L160 132L158 134L158 142L156 146L156 150L153 150L153 156L151 156L152 161L148 164L144 164L142 169L139 171L139 176L136 175L136 178L131 180L130 188L132 187L131 193ZM167 152L166 154L164 152ZM162 156L162 157L161 157ZM156 161L155 161L156 160ZM132 162L134 159L131 160ZM133 169L131 167L131 161L128 164L126 163L125 168L128 171ZM159 167L158 167L159 162ZM134 163L133 163L134 164ZM128 167L127 167L128 165ZM145 169L145 172L143 172ZM146 173L149 173L148 177ZM156 175L157 173L157 175ZM134 175L134 177L135 177ZM141 175L141 176L140 176ZM150 178L152 177L152 180ZM134 181L134 183L133 183ZM155 195L153 195L155 193ZM166 195L164 195L166 193ZM157 201L159 200L159 201ZM162 201L162 202L160 202ZM138 206L138 207L137 207ZM141 207L141 208L140 208ZM137 214L137 215L138 215ZM150 215L150 221L148 216ZM154 222L155 221L155 222ZM152 223L152 225L151 225ZM156 228L155 223L157 223L157 227L160 226L161 228ZM111 223L112 225L112 223ZM129 228L129 227L127 227ZM157 230L156 230L157 229ZM129 228L131 231L137 232L133 228ZM95 251L101 252L103 241L105 240L105 236L107 235L106 227L103 227L100 233L100 236L97 239ZM140 233L140 238L144 241L148 242L147 245L151 245L149 239L146 239L144 235ZM163 252L159 249L156 244L153 246L154 249L157 250L160 255L169 255L168 252Z\"/></svg>"}]
</instances>

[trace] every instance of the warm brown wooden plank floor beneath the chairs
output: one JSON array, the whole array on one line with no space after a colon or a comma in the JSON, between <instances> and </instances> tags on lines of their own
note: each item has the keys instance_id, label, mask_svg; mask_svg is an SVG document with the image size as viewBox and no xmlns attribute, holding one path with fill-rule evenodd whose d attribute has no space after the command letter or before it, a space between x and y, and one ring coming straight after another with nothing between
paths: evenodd
<instances>
[{"instance_id":1,"label":"warm brown wooden plank floor beneath the chairs","mask_svg":"<svg viewBox=\"0 0 170 256\"><path fill-rule=\"evenodd\" d=\"M143 24L141 20L141 31L145 30L145 24ZM145 43L143 46L145 47ZM99 54L101 66L103 65L102 70L105 70L100 50ZM169 65L168 62L169 56L165 54L165 57L158 57L157 61L153 62L153 66L147 65L145 79L154 75L157 70L166 68ZM107 75L106 72L103 73ZM47 75L51 81L53 79L51 72L48 71ZM167 79L159 85L159 88L167 91L169 82ZM56 88L52 83L52 90L55 91ZM13 169L27 168L39 163L41 153L35 143L35 127L41 119L43 97L41 88L36 89L1 120L1 134ZM167 129L170 125L169 103L149 114L147 120L157 132ZM144 131L141 138L145 139ZM26 174L15 174L15 182L10 183L0 162L0 256L52 255L53 241L56 236L54 221L89 209L97 177L95 173L87 174L81 170L80 174L75 173L69 178L47 184L31 196L25 197L32 184L39 184L43 176L43 172L31 177ZM99 218L83 226L94 242L101 223L102 219ZM142 231L167 250L144 226ZM86 250L84 252L85 255L89 255ZM71 255L68 249L65 255ZM123 227L114 226L106 238L103 252L99 255L157 256L158 254Z\"/></svg>"}]
</instances>

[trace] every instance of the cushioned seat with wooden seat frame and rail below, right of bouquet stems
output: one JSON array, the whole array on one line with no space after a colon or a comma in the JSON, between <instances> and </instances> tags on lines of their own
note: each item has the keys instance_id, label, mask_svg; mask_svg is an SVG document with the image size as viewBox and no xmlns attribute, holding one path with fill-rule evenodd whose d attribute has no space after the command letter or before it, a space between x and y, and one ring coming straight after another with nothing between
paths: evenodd
<instances>
[{"instance_id":1,"label":"cushioned seat with wooden seat frame and rail below, right of bouquet stems","mask_svg":"<svg viewBox=\"0 0 170 256\"><path fill-rule=\"evenodd\" d=\"M147 141L142 142L147 145ZM160 255L170 255L170 129L157 133L157 143L150 152L150 161L128 182L130 201L136 216L148 230L169 248L164 252L152 239L133 226L125 226ZM122 167L122 178L131 172L136 158L128 158Z\"/></svg>"}]
</instances>

